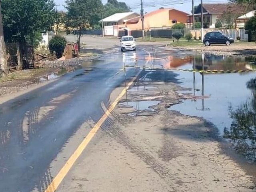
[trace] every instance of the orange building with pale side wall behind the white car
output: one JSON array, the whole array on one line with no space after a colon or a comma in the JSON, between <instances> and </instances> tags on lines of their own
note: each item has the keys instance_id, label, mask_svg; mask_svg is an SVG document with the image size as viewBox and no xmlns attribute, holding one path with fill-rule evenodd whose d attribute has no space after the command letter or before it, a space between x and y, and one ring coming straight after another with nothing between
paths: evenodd
<instances>
[{"instance_id":1,"label":"orange building with pale side wall behind the white car","mask_svg":"<svg viewBox=\"0 0 256 192\"><path fill-rule=\"evenodd\" d=\"M144 15L144 29L171 27L176 23L188 23L189 14L174 8L158 9ZM126 21L123 27L129 30L142 30L141 16Z\"/></svg>"}]
</instances>

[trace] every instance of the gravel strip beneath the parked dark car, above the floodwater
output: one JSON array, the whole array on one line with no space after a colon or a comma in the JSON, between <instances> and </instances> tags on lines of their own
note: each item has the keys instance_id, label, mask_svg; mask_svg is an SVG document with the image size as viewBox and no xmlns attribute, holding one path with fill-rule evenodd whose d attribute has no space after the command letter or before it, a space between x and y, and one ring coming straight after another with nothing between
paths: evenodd
<instances>
[{"instance_id":1,"label":"gravel strip beneath the parked dark car, above the floodwater","mask_svg":"<svg viewBox=\"0 0 256 192\"><path fill-rule=\"evenodd\" d=\"M196 44L192 46L168 46L180 50L191 50L195 52L211 53L215 55L256 55L256 46L253 43L204 46Z\"/></svg>"}]
</instances>

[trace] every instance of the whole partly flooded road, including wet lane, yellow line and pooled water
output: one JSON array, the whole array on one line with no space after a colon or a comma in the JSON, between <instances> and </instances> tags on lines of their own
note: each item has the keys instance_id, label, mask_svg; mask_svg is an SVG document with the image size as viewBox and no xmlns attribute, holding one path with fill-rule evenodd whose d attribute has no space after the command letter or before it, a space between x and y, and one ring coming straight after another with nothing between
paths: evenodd
<instances>
[{"instance_id":1,"label":"whole partly flooded road, including wet lane, yellow line and pooled water","mask_svg":"<svg viewBox=\"0 0 256 192\"><path fill-rule=\"evenodd\" d=\"M248 58L214 58L202 66L200 58L151 47L105 54L74 72L45 76L42 82L55 81L1 104L0 191L254 192L254 175L222 151L204 121L173 110L202 116L249 149L255 74L162 70L253 65ZM189 91L179 93L186 100L177 104L180 87ZM254 149L247 151L252 157Z\"/></svg>"}]
</instances>

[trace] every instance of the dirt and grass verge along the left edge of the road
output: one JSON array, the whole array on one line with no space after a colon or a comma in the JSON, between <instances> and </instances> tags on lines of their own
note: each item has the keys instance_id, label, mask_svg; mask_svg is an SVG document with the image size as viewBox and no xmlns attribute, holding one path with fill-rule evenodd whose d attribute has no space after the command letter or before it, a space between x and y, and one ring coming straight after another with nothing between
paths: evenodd
<instances>
[{"instance_id":1,"label":"dirt and grass verge along the left edge of the road","mask_svg":"<svg viewBox=\"0 0 256 192\"><path fill-rule=\"evenodd\" d=\"M98 58L100 58L100 55L73 58L64 61L45 60L40 64L40 68L11 72L8 76L0 78L0 103L7 101L8 99L5 98L7 96L8 98L15 98L20 94L26 93L26 90L29 92L35 88L44 86L59 76L74 71L82 63L97 60Z\"/></svg>"}]
</instances>

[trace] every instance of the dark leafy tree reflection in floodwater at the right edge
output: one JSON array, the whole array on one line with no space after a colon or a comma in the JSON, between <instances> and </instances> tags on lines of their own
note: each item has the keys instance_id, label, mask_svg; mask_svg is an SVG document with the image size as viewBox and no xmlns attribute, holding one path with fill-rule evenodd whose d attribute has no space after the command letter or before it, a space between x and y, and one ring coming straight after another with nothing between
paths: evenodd
<instances>
[{"instance_id":1,"label":"dark leafy tree reflection in floodwater at the right edge","mask_svg":"<svg viewBox=\"0 0 256 192\"><path fill-rule=\"evenodd\" d=\"M230 106L230 128L224 129L224 137L230 138L234 148L249 160L256 162L256 78L247 82L252 95L235 110Z\"/></svg>"}]
</instances>

